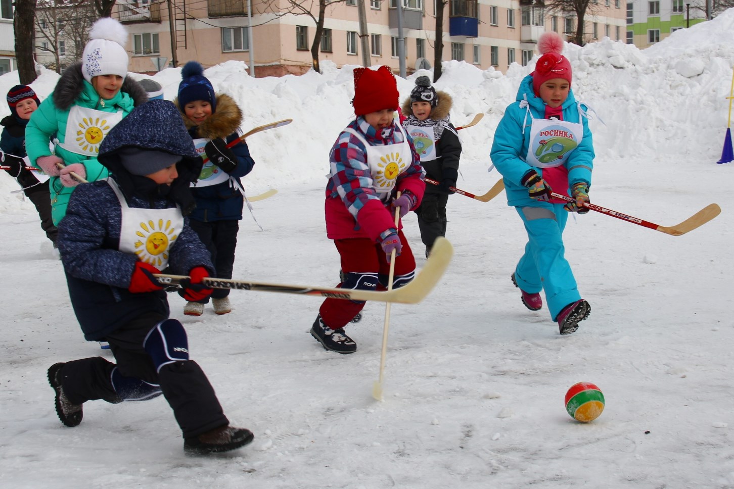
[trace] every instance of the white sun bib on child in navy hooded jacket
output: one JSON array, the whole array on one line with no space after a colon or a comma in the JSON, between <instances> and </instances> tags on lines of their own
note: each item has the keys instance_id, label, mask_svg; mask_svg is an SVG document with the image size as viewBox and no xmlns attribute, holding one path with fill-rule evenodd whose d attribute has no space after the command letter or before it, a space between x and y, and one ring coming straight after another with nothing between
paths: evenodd
<instances>
[{"instance_id":1,"label":"white sun bib on child in navy hooded jacket","mask_svg":"<svg viewBox=\"0 0 734 489\"><path fill-rule=\"evenodd\" d=\"M183 229L181 210L178 207L168 209L130 207L117 182L112 178L106 181L120 200L122 225L118 249L125 253L137 254L140 261L163 270L168 265L170 249Z\"/></svg>"}]
</instances>

